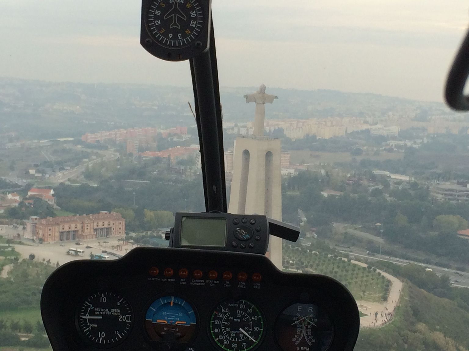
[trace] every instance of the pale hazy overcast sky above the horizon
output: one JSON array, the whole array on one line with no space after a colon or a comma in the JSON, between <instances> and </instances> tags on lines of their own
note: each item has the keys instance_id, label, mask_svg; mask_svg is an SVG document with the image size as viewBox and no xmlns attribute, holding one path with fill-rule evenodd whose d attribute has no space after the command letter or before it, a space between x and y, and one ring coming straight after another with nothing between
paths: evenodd
<instances>
[{"instance_id":1,"label":"pale hazy overcast sky above the horizon","mask_svg":"<svg viewBox=\"0 0 469 351\"><path fill-rule=\"evenodd\" d=\"M140 6L0 0L0 76L189 86L188 62L140 46ZM213 0L212 9L222 86L431 101L442 101L469 22L467 0Z\"/></svg>"}]
</instances>

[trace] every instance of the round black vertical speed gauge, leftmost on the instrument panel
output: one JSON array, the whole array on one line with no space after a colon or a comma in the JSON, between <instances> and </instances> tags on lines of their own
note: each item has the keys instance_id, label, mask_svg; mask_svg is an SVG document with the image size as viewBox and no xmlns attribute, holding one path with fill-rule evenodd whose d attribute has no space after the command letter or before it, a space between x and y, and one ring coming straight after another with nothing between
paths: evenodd
<instances>
[{"instance_id":1,"label":"round black vertical speed gauge, leftmost on the instrument panel","mask_svg":"<svg viewBox=\"0 0 469 351\"><path fill-rule=\"evenodd\" d=\"M129 303L114 292L97 292L78 307L76 325L83 339L98 348L123 342L133 322Z\"/></svg>"}]
</instances>

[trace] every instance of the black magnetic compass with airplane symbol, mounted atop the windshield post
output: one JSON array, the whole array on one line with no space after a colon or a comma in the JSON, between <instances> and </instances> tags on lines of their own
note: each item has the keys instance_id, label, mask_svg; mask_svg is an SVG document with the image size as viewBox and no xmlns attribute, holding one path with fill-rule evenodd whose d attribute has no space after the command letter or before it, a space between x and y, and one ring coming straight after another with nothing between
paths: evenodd
<instances>
[{"instance_id":1,"label":"black magnetic compass with airplane symbol, mounted atop the windshield post","mask_svg":"<svg viewBox=\"0 0 469 351\"><path fill-rule=\"evenodd\" d=\"M210 17L210 1L143 0L140 44L160 59L190 59L208 48Z\"/></svg>"}]
</instances>

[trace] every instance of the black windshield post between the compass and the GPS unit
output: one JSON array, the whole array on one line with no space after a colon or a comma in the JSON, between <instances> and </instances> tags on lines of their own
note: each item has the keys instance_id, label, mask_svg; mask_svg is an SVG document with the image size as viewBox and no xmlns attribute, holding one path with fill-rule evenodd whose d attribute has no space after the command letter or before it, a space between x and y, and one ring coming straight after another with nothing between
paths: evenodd
<instances>
[{"instance_id":1,"label":"black windshield post between the compass and the GPS unit","mask_svg":"<svg viewBox=\"0 0 469 351\"><path fill-rule=\"evenodd\" d=\"M201 140L202 173L204 177L205 207L207 211L226 212L223 145L219 143L219 124L215 103L210 51L192 59L194 95L197 95L196 113L199 139ZM223 168L223 169L222 169Z\"/></svg>"}]
</instances>

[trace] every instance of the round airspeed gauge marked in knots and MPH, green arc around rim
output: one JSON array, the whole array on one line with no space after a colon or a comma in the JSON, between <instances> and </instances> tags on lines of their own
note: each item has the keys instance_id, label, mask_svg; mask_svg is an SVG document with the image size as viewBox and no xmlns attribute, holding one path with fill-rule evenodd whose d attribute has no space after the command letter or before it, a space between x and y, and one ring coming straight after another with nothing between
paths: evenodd
<instances>
[{"instance_id":1,"label":"round airspeed gauge marked in knots and MPH, green arc around rim","mask_svg":"<svg viewBox=\"0 0 469 351\"><path fill-rule=\"evenodd\" d=\"M212 312L209 333L221 350L254 350L264 335L264 318L250 301L225 300Z\"/></svg>"}]
</instances>

